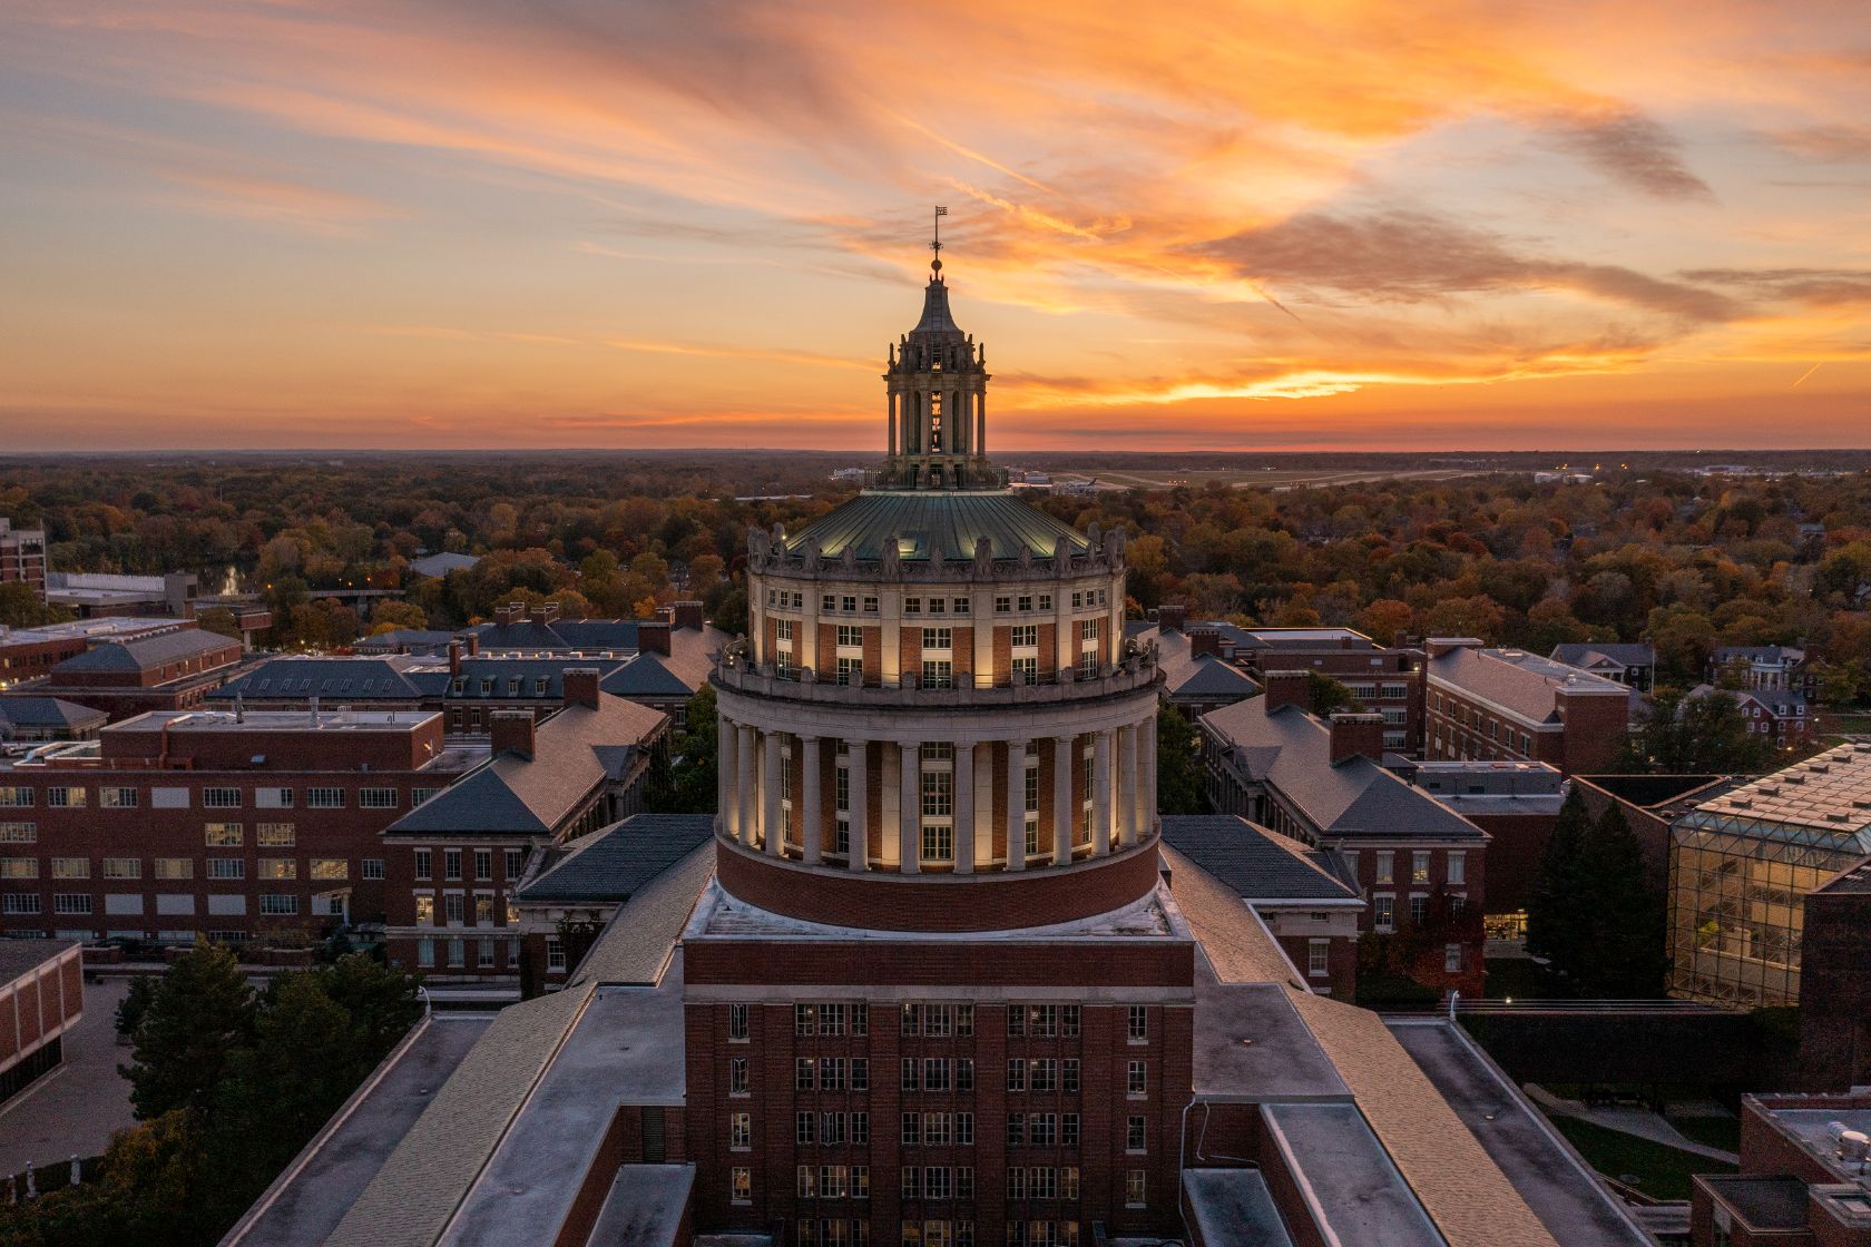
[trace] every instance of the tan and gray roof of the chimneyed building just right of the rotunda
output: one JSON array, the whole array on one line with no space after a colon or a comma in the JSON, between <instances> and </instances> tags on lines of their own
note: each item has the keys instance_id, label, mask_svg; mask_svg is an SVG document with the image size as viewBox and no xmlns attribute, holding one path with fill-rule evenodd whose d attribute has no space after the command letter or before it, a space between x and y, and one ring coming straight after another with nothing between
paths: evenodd
<instances>
[{"instance_id":1,"label":"tan and gray roof of the chimneyed building just right of the rotunda","mask_svg":"<svg viewBox=\"0 0 1871 1247\"><path fill-rule=\"evenodd\" d=\"M1622 688L1622 686L1620 686ZM1482 828L1364 755L1332 763L1332 737L1300 707L1267 712L1265 697L1201 716L1252 780L1276 789L1321 836L1487 839Z\"/></svg>"}]
</instances>

